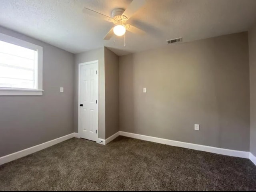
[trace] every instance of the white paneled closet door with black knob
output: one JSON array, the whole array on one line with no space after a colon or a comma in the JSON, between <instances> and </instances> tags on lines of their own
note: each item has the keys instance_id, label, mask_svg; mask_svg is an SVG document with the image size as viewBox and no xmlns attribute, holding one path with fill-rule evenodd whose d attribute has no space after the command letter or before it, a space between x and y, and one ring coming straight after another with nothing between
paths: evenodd
<instances>
[{"instance_id":1,"label":"white paneled closet door with black knob","mask_svg":"<svg viewBox=\"0 0 256 192\"><path fill-rule=\"evenodd\" d=\"M79 64L78 135L98 139L98 61Z\"/></svg>"}]
</instances>

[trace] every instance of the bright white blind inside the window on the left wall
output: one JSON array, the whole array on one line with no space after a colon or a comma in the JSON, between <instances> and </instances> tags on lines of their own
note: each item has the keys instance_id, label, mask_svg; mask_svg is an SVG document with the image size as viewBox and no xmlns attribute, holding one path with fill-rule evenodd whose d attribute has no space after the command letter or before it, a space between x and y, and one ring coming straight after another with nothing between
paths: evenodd
<instances>
[{"instance_id":1,"label":"bright white blind inside the window on the left wall","mask_svg":"<svg viewBox=\"0 0 256 192\"><path fill-rule=\"evenodd\" d=\"M0 41L0 87L37 89L37 50Z\"/></svg>"}]
</instances>

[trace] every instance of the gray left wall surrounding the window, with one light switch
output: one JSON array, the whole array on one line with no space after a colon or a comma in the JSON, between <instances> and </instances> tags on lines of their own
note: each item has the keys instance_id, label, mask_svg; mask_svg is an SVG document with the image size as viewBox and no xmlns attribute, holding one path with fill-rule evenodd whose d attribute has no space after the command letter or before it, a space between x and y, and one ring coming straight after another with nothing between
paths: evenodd
<instances>
[{"instance_id":1,"label":"gray left wall surrounding the window, with one light switch","mask_svg":"<svg viewBox=\"0 0 256 192\"><path fill-rule=\"evenodd\" d=\"M0 156L74 132L74 55L0 27L43 47L42 96L0 96ZM64 93L60 93L64 87Z\"/></svg>"}]
</instances>

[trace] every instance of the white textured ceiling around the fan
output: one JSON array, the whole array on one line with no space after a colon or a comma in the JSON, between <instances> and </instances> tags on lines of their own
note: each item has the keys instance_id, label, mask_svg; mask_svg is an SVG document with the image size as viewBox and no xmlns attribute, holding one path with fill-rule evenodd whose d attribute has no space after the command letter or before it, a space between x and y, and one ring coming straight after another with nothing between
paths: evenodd
<instances>
[{"instance_id":1,"label":"white textured ceiling around the fan","mask_svg":"<svg viewBox=\"0 0 256 192\"><path fill-rule=\"evenodd\" d=\"M256 22L256 0L146 0L128 23L145 36L126 33L104 41L112 23L82 13L87 7L106 15L131 0L0 0L0 25L72 53L109 47L118 55L152 49L166 40L183 42L247 31Z\"/></svg>"}]
</instances>

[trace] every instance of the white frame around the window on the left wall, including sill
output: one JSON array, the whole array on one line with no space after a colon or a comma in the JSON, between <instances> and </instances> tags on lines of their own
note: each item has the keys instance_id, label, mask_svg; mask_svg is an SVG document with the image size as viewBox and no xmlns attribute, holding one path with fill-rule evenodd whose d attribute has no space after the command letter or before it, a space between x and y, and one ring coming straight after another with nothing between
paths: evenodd
<instances>
[{"instance_id":1,"label":"white frame around the window on the left wall, including sill","mask_svg":"<svg viewBox=\"0 0 256 192\"><path fill-rule=\"evenodd\" d=\"M28 49L33 49L38 53L38 62L35 68L35 73L37 73L37 78L35 79L35 83L37 83L37 89L0 87L0 95L43 95L43 48L41 46L2 33L0 33L0 41Z\"/></svg>"}]
</instances>

